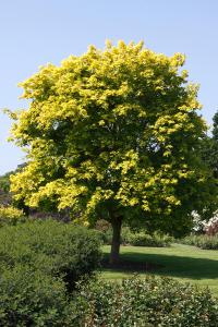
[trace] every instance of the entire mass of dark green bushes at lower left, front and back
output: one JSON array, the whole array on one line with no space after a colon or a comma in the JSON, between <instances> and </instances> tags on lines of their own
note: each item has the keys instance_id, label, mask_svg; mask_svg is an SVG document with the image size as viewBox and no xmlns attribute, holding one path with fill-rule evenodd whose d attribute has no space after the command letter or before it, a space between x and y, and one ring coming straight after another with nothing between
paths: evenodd
<instances>
[{"instance_id":1,"label":"entire mass of dark green bushes at lower left, front and back","mask_svg":"<svg viewBox=\"0 0 218 327\"><path fill-rule=\"evenodd\" d=\"M0 325L78 326L69 296L99 265L98 234L46 220L4 226L0 239Z\"/></svg>"}]
</instances>

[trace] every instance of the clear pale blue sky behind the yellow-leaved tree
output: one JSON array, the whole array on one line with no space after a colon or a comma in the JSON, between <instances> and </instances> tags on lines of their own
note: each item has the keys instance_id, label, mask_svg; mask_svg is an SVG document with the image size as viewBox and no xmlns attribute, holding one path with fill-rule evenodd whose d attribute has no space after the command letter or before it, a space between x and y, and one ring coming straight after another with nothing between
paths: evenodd
<instances>
[{"instance_id":1,"label":"clear pale blue sky behind the yellow-leaved tree","mask_svg":"<svg viewBox=\"0 0 218 327\"><path fill-rule=\"evenodd\" d=\"M218 110L217 0L7 0L0 1L0 108L24 107L17 83L38 66L102 48L144 40L154 51L186 55L190 81L201 84L202 114L211 123ZM24 154L7 142L11 122L0 113L0 174Z\"/></svg>"}]
</instances>

